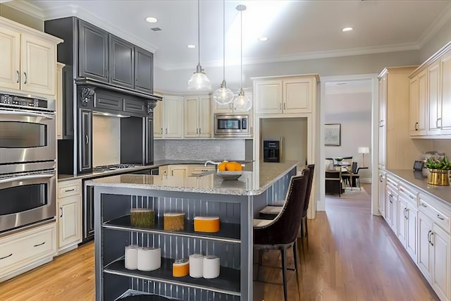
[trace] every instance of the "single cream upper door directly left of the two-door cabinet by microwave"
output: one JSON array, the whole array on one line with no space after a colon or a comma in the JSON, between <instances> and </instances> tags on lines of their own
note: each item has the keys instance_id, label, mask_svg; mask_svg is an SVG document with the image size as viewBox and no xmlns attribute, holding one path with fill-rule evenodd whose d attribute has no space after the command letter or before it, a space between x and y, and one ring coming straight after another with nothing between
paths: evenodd
<instances>
[{"instance_id":1,"label":"single cream upper door directly left of the two-door cabinet by microwave","mask_svg":"<svg viewBox=\"0 0 451 301\"><path fill-rule=\"evenodd\" d=\"M164 97L163 102L165 102L164 123L166 125L164 137L183 137L183 97Z\"/></svg>"}]
</instances>

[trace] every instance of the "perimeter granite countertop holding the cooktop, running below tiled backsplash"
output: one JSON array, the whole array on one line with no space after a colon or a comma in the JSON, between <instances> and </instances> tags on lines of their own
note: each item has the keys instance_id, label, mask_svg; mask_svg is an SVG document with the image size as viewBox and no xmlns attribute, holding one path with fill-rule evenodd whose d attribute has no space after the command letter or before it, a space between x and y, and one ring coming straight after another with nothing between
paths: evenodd
<instances>
[{"instance_id":1,"label":"perimeter granite countertop holding the cooktop, running below tiled backsplash","mask_svg":"<svg viewBox=\"0 0 451 301\"><path fill-rule=\"evenodd\" d=\"M113 176L118 173L129 173L130 171L140 171L142 169L152 169L157 168L163 165L172 165L172 164L204 164L206 160L156 160L153 165L142 165L135 166L130 168L118 168L111 171L97 171L92 173L82 173L80 175L64 175L58 174L58 182L65 180L77 180L77 179L89 179L89 178L99 178L104 176ZM223 160L212 160L212 161L223 161ZM243 160L228 160L228 161L237 161L238 163L252 163L252 161L243 161Z\"/></svg>"}]
</instances>

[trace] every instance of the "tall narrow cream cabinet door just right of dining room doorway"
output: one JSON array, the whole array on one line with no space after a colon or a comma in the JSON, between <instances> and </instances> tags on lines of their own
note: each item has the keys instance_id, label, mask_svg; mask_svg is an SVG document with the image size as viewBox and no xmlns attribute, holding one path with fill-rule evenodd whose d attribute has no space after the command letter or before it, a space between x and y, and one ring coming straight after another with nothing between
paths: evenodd
<instances>
[{"instance_id":1,"label":"tall narrow cream cabinet door just right of dining room doorway","mask_svg":"<svg viewBox=\"0 0 451 301\"><path fill-rule=\"evenodd\" d=\"M379 79L379 167L385 169L387 158L387 74Z\"/></svg>"}]
</instances>

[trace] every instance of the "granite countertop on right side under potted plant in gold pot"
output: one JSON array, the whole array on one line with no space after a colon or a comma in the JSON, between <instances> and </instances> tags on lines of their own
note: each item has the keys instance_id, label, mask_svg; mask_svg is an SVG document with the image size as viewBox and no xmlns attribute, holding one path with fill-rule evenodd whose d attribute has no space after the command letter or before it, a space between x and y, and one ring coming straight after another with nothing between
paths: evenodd
<instances>
[{"instance_id":1,"label":"granite countertop on right side under potted plant in gold pot","mask_svg":"<svg viewBox=\"0 0 451 301\"><path fill-rule=\"evenodd\" d=\"M451 186L435 186L429 185L428 179L423 178L421 172L415 173L411 169L389 169L389 173L397 176L401 180L405 180L416 188L425 192L433 197L445 202L451 206Z\"/></svg>"}]
</instances>

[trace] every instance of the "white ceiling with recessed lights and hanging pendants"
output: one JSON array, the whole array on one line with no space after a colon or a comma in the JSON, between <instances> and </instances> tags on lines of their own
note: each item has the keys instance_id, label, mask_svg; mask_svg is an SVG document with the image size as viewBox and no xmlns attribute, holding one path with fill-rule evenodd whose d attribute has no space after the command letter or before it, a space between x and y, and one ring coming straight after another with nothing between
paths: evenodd
<instances>
[{"instance_id":1,"label":"white ceiling with recessed lights and hanging pendants","mask_svg":"<svg viewBox=\"0 0 451 301\"><path fill-rule=\"evenodd\" d=\"M1 0L8 1L8 0ZM451 18L451 0L314 0L225 2L226 64L315 59L420 49ZM44 20L78 16L154 52L165 70L194 69L198 60L197 1L8 1ZM147 23L146 17L158 18ZM152 31L159 27L161 31ZM343 27L354 27L342 32ZM223 64L223 1L200 1L200 62ZM257 37L268 37L258 42Z\"/></svg>"}]
</instances>

